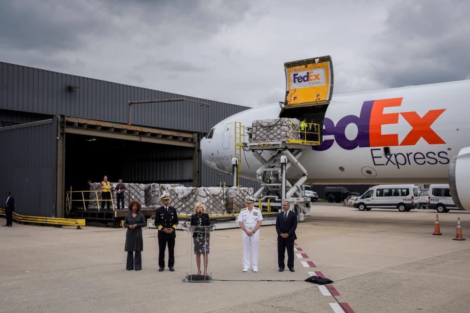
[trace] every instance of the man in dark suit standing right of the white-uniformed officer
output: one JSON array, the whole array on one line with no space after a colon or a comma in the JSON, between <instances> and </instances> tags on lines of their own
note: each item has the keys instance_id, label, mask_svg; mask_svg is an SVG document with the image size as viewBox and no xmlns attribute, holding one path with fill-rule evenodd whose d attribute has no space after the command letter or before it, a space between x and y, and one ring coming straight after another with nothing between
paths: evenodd
<instances>
[{"instance_id":1,"label":"man in dark suit standing right of the white-uniformed officer","mask_svg":"<svg viewBox=\"0 0 470 313\"><path fill-rule=\"evenodd\" d=\"M282 212L276 217L276 231L278 233L278 265L279 271L284 270L284 253L287 249L287 267L294 272L294 240L297 239L297 214L290 211L289 202L282 203Z\"/></svg>"}]
</instances>

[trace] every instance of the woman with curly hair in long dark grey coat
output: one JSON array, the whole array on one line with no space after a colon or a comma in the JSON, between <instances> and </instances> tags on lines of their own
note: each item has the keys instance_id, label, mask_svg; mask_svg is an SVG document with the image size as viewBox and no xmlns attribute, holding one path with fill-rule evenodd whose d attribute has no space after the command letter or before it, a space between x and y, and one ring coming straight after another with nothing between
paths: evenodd
<instances>
[{"instance_id":1,"label":"woman with curly hair in long dark grey coat","mask_svg":"<svg viewBox=\"0 0 470 313\"><path fill-rule=\"evenodd\" d=\"M131 201L129 203L129 213L124 219L124 227L127 228L126 232L126 246L127 251L127 264L126 269L141 270L142 269L142 256L143 240L142 240L142 227L145 227L145 217L141 212L141 203L138 201ZM135 257L133 252L135 251Z\"/></svg>"}]
</instances>

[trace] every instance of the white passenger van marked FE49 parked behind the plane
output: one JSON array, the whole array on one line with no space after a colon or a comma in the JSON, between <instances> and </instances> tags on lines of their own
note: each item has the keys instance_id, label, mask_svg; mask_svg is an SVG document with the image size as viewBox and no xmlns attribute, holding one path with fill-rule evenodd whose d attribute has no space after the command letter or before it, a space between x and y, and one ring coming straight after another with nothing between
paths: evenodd
<instances>
[{"instance_id":1,"label":"white passenger van marked FE49 parked behind the plane","mask_svg":"<svg viewBox=\"0 0 470 313\"><path fill-rule=\"evenodd\" d=\"M379 185L369 188L354 201L360 211L376 208L397 208L400 212L410 211L420 205L416 185Z\"/></svg>"}]
</instances>

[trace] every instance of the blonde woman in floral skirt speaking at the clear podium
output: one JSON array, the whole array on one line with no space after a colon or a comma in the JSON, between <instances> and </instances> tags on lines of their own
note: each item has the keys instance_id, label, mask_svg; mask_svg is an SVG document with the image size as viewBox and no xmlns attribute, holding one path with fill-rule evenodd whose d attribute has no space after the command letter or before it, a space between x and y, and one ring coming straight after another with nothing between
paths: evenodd
<instances>
[{"instance_id":1,"label":"blonde woman in floral skirt speaking at the clear podium","mask_svg":"<svg viewBox=\"0 0 470 313\"><path fill-rule=\"evenodd\" d=\"M209 214L204 213L204 206L198 202L194 206L194 214L191 215L192 226L210 226ZM194 254L196 254L197 274L201 275L201 254L204 254L204 275L207 276L209 264L209 233L193 232Z\"/></svg>"}]
</instances>

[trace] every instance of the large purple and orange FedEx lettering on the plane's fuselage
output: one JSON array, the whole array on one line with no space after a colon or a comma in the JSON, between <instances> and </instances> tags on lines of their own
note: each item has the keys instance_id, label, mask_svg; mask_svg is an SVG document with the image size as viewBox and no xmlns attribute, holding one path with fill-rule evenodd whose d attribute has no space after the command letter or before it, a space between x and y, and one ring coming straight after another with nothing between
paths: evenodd
<instances>
[{"instance_id":1,"label":"large purple and orange FedEx lettering on the plane's fuselage","mask_svg":"<svg viewBox=\"0 0 470 313\"><path fill-rule=\"evenodd\" d=\"M400 107L403 98L381 99L365 101L359 116L347 115L341 118L336 125L329 118L323 121L323 135L333 135L334 139L326 139L319 146L314 146L313 150L328 150L333 142L345 150L352 150L357 147L391 147L391 146L412 146L423 138L427 143L446 143L432 129L431 125L446 109L429 110L423 116L417 112L384 113L383 110L389 107ZM398 134L382 134L382 125L398 124L399 116L402 116L412 127L405 138L399 142ZM357 136L350 140L346 137L345 130L349 124L357 126Z\"/></svg>"}]
</instances>

